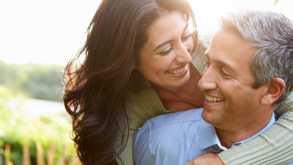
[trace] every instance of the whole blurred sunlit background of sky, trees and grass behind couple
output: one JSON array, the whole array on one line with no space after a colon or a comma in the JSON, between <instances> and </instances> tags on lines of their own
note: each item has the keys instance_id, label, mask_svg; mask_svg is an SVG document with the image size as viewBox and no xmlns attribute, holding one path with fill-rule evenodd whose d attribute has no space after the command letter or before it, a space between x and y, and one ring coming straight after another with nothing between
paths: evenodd
<instances>
[{"instance_id":1,"label":"whole blurred sunlit background of sky, trees and grass behind couple","mask_svg":"<svg viewBox=\"0 0 293 165\"><path fill-rule=\"evenodd\" d=\"M0 165L75 164L62 70L85 41L100 0L0 1ZM199 33L236 8L293 19L291 0L190 0ZM4 161L4 159L6 161Z\"/></svg>"}]
</instances>

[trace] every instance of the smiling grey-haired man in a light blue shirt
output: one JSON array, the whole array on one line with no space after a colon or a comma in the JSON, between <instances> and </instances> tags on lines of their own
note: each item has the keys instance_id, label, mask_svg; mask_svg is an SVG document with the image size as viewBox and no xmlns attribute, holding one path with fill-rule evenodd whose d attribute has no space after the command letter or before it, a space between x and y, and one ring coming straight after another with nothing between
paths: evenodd
<instances>
[{"instance_id":1,"label":"smiling grey-haired man in a light blue shirt","mask_svg":"<svg viewBox=\"0 0 293 165\"><path fill-rule=\"evenodd\" d=\"M292 21L273 12L229 13L206 55L198 83L204 108L148 120L135 135L136 165L193 164L197 156L248 142L275 123L275 107L293 90Z\"/></svg>"}]
</instances>

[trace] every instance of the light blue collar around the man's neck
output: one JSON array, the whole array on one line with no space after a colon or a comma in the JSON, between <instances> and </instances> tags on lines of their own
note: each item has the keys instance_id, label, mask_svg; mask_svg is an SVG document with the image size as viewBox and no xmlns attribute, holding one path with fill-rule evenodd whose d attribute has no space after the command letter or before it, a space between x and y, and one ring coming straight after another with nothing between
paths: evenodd
<instances>
[{"instance_id":1,"label":"light blue collar around the man's neck","mask_svg":"<svg viewBox=\"0 0 293 165\"><path fill-rule=\"evenodd\" d=\"M276 122L276 118L275 118L275 114L273 113L270 122L262 130L260 130L258 133L256 133L255 135L253 135L252 137L248 139L242 140L241 142L233 143L231 147L238 146L239 144L243 144L245 142L250 141L251 139L254 139L255 137L258 137L260 134L263 134L264 132L266 132L275 122ZM219 138L217 137L214 126L212 124L205 122L203 119L202 119L202 124L201 124L199 133L200 133L200 149L201 150L211 147L213 145L218 145L219 147L222 146L219 141ZM222 149L226 150L226 147L223 147Z\"/></svg>"}]
</instances>

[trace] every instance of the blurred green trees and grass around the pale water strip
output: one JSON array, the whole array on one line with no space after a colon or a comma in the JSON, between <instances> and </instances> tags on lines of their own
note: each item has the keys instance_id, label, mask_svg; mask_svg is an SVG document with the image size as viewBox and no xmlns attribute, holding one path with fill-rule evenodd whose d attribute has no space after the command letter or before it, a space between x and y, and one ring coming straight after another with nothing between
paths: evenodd
<instances>
[{"instance_id":1,"label":"blurred green trees and grass around the pale water strip","mask_svg":"<svg viewBox=\"0 0 293 165\"><path fill-rule=\"evenodd\" d=\"M75 155L74 143L70 139L72 125L65 109L63 113L36 117L23 115L22 107L17 107L15 112L7 105L9 100L15 98L61 101L60 67L5 64L0 61L0 70L0 164L4 165L6 144L10 144L10 159L13 164L23 164L25 144L28 146L31 164L37 164L37 142L44 148L45 160L48 159L48 153L52 152L53 144L53 164L58 164L59 159L64 159L66 164L72 161L70 158ZM50 156L52 157L52 153Z\"/></svg>"}]
</instances>

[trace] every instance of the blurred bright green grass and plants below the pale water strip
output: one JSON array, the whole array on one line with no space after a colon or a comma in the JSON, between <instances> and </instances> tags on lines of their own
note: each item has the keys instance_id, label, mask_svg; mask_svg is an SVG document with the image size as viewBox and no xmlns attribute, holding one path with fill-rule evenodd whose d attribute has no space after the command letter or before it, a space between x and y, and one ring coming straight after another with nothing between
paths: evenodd
<instances>
[{"instance_id":1,"label":"blurred bright green grass and plants below the pale water strip","mask_svg":"<svg viewBox=\"0 0 293 165\"><path fill-rule=\"evenodd\" d=\"M25 141L30 147L31 163L36 164L36 142L41 142L47 156L48 149L53 143L56 147L55 161L67 148L67 162L74 154L73 141L70 139L71 121L67 114L25 118L21 108L17 113L12 112L6 101L11 97L23 97L15 91L0 84L0 156L4 158L5 144L11 144L11 160L15 165L22 164L22 147ZM1 162L2 164L4 162Z\"/></svg>"}]
</instances>

